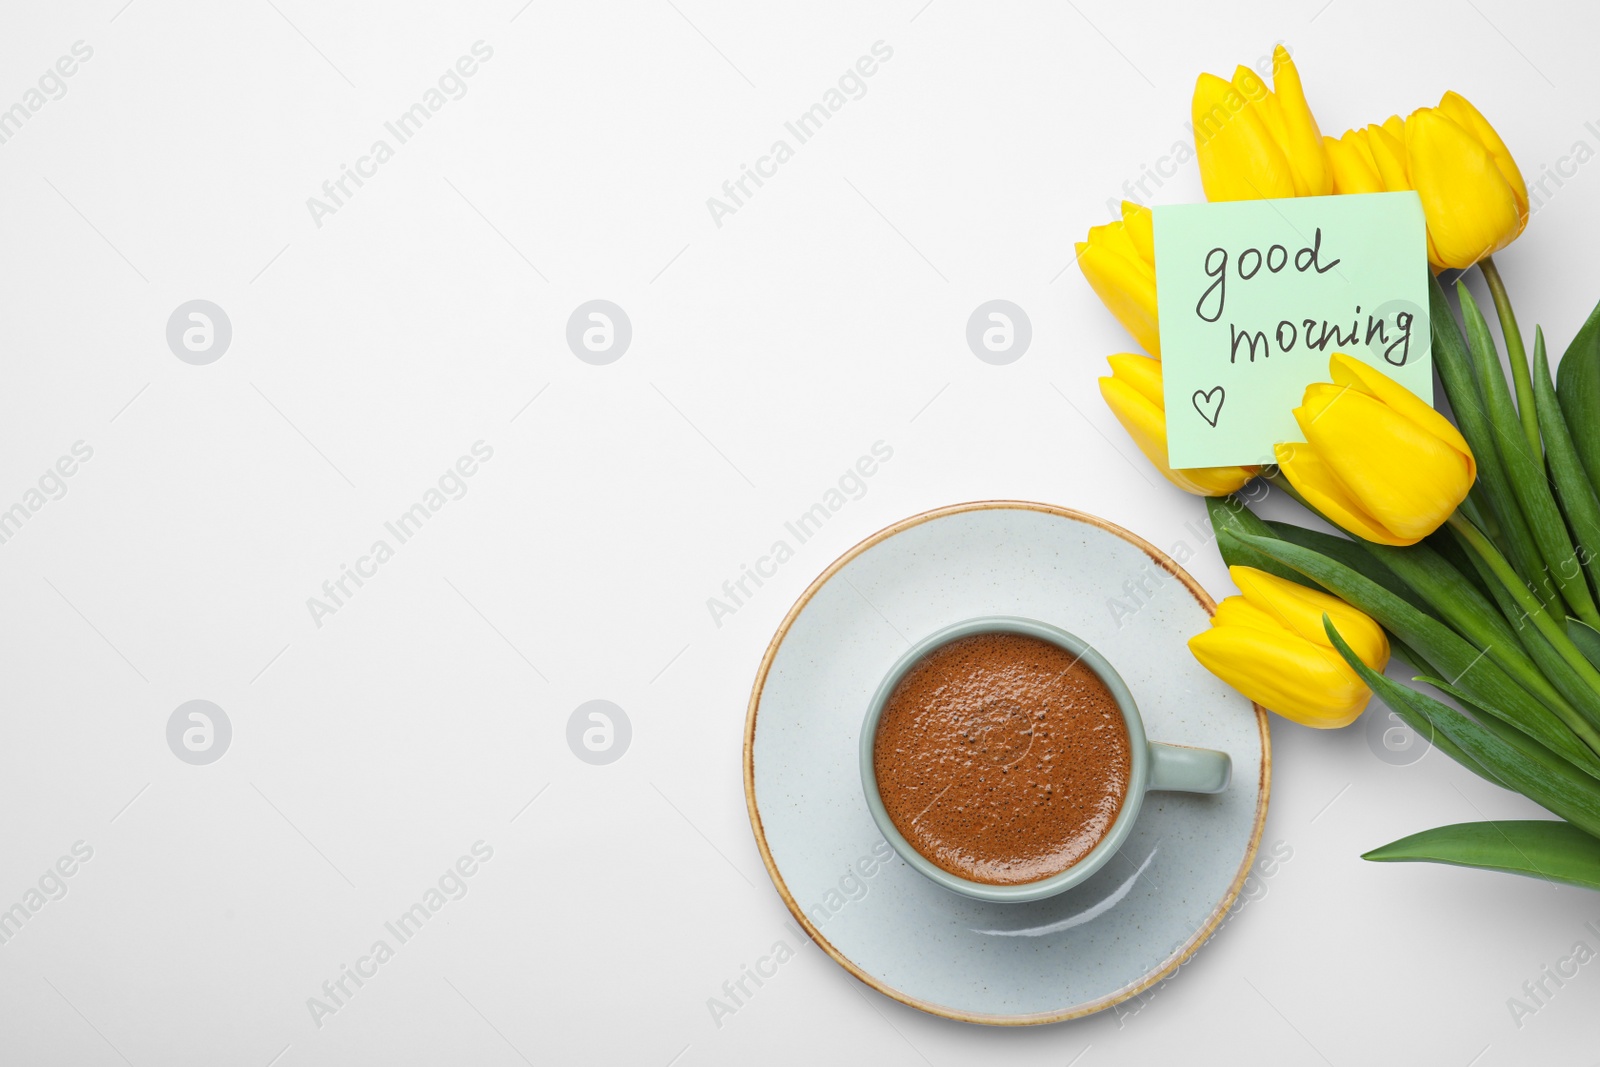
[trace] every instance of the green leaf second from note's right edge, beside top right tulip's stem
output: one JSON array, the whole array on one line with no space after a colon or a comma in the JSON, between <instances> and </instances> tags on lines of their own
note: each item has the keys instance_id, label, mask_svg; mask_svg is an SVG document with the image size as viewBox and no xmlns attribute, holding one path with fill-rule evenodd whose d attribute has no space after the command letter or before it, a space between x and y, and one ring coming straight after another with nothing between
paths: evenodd
<instances>
[{"instance_id":1,"label":"green leaf second from note's right edge, beside top right tulip's stem","mask_svg":"<svg viewBox=\"0 0 1600 1067\"><path fill-rule=\"evenodd\" d=\"M1494 427L1494 445L1499 450L1501 462L1510 477L1512 493L1528 520L1528 530L1539 547L1539 558L1544 571L1560 590L1562 600L1573 614L1600 625L1600 611L1595 609L1594 597L1589 595L1589 582L1578 566L1578 552L1573 549L1571 534L1562 520L1562 510L1555 506L1550 483L1544 477L1541 456L1528 450L1528 442L1522 434L1517 408L1510 402L1510 390L1506 387L1506 376L1501 373L1499 352L1494 349L1494 338L1483 320L1472 293L1461 282L1456 283L1461 296L1461 315L1467 323L1467 341L1478 368L1478 384L1490 411L1490 422ZM1525 577L1530 577L1525 574ZM1541 577L1538 571L1531 577ZM1542 582L1539 582L1542 585Z\"/></svg>"}]
</instances>

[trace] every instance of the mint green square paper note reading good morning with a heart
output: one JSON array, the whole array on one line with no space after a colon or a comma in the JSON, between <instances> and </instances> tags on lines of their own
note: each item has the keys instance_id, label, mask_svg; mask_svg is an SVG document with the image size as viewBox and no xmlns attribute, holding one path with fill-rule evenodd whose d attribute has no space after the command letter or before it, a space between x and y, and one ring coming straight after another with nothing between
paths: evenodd
<instances>
[{"instance_id":1,"label":"mint green square paper note reading good morning with a heart","mask_svg":"<svg viewBox=\"0 0 1600 1067\"><path fill-rule=\"evenodd\" d=\"M1427 229L1414 192L1155 208L1173 467L1272 462L1344 352L1429 403Z\"/></svg>"}]
</instances>

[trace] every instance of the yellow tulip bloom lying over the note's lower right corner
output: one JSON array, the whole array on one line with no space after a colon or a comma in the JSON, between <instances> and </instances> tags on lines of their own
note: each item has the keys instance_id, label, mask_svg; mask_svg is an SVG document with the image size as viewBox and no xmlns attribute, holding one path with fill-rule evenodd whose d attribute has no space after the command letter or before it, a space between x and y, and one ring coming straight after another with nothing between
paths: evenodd
<instances>
[{"instance_id":1,"label":"yellow tulip bloom lying over the note's lower right corner","mask_svg":"<svg viewBox=\"0 0 1600 1067\"><path fill-rule=\"evenodd\" d=\"M1304 442L1278 445L1278 467L1306 502L1357 537L1416 544L1467 496L1478 467L1432 405L1358 360L1334 354L1333 382L1294 408Z\"/></svg>"}]
</instances>

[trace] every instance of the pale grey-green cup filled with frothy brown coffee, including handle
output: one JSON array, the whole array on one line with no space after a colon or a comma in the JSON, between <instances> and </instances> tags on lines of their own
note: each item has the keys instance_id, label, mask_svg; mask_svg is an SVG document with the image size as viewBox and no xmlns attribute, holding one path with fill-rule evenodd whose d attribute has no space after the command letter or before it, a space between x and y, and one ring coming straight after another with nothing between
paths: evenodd
<instances>
[{"instance_id":1,"label":"pale grey-green cup filled with frothy brown coffee, including handle","mask_svg":"<svg viewBox=\"0 0 1600 1067\"><path fill-rule=\"evenodd\" d=\"M861 728L878 830L947 889L1038 901L1085 881L1149 790L1221 793L1226 752L1147 741L1126 683L1088 641L1011 616L917 641Z\"/></svg>"}]
</instances>

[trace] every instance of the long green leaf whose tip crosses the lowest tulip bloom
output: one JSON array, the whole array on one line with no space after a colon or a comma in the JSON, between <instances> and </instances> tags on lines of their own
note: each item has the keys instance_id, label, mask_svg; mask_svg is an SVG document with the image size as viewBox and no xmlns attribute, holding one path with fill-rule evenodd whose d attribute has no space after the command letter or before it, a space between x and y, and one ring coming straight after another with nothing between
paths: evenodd
<instances>
[{"instance_id":1,"label":"long green leaf whose tip crosses the lowest tulip bloom","mask_svg":"<svg viewBox=\"0 0 1600 1067\"><path fill-rule=\"evenodd\" d=\"M1384 704L1395 710L1405 707L1426 720L1509 789L1590 833L1600 833L1600 785L1594 777L1554 755L1541 758L1512 747L1448 704L1378 673L1339 637L1328 616L1323 616L1323 629L1350 669Z\"/></svg>"}]
</instances>

